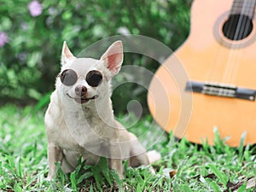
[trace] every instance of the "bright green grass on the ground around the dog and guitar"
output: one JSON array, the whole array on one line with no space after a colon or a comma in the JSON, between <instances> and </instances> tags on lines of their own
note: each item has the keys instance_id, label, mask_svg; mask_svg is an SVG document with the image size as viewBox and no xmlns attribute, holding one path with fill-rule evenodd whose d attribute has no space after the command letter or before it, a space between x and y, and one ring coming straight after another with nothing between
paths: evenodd
<instances>
[{"instance_id":1,"label":"bright green grass on the ground around the dog and guitar","mask_svg":"<svg viewBox=\"0 0 256 192\"><path fill-rule=\"evenodd\" d=\"M129 126L129 120L121 119ZM55 180L48 182L45 181L48 165L44 113L30 107L2 107L0 191L255 191L246 190L247 180L256 175L253 146L230 148L218 134L216 147L207 143L200 147L185 139L177 143L172 135L163 135L156 125L148 129L150 122L150 117L140 119L129 130L145 146L160 151L162 160L154 164L155 175L149 172L148 166L133 169L125 163L125 179L120 180L102 159L97 166L80 162L70 174L63 174L57 164ZM170 177L173 170L177 173Z\"/></svg>"}]
</instances>

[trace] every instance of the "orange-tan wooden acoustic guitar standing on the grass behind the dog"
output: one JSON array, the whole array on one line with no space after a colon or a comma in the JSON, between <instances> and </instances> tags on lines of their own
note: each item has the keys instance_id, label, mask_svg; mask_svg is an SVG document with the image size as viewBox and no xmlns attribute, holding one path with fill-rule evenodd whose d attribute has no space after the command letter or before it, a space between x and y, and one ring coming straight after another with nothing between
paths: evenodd
<instances>
[{"instance_id":1,"label":"orange-tan wooden acoustic guitar standing on the grass behind the dog","mask_svg":"<svg viewBox=\"0 0 256 192\"><path fill-rule=\"evenodd\" d=\"M189 38L160 66L148 107L177 138L256 143L256 0L195 0ZM185 74L185 75L184 75Z\"/></svg>"}]
</instances>

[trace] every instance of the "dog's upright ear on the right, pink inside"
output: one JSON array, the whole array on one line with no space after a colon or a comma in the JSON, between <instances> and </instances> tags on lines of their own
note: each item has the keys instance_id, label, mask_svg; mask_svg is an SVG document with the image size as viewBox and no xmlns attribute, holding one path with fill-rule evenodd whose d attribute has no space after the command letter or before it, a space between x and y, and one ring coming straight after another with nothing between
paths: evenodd
<instances>
[{"instance_id":1,"label":"dog's upright ear on the right, pink inside","mask_svg":"<svg viewBox=\"0 0 256 192\"><path fill-rule=\"evenodd\" d=\"M116 41L109 46L107 51L102 55L101 60L108 68L112 75L119 73L123 62L123 44L121 41Z\"/></svg>"}]
</instances>

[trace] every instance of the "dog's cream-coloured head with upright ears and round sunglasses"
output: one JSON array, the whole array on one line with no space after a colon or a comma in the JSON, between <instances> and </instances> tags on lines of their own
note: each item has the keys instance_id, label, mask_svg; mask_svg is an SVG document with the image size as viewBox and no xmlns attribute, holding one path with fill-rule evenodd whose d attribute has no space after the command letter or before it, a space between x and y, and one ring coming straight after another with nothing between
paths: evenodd
<instances>
[{"instance_id":1,"label":"dog's cream-coloured head with upright ears and round sunglasses","mask_svg":"<svg viewBox=\"0 0 256 192\"><path fill-rule=\"evenodd\" d=\"M66 101L89 105L110 96L110 80L119 73L123 62L123 45L116 41L109 46L100 60L76 58L63 44L61 73L56 80L56 90Z\"/></svg>"}]
</instances>

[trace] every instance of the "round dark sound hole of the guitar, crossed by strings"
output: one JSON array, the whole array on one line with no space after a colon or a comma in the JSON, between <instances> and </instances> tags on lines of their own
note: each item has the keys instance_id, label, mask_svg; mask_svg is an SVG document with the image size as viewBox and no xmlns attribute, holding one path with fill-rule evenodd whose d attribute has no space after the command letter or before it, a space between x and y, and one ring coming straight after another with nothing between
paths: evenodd
<instances>
[{"instance_id":1,"label":"round dark sound hole of the guitar, crossed by strings","mask_svg":"<svg viewBox=\"0 0 256 192\"><path fill-rule=\"evenodd\" d=\"M224 36L235 41L247 38L252 30L253 22L247 15L230 15L223 26Z\"/></svg>"}]
</instances>

